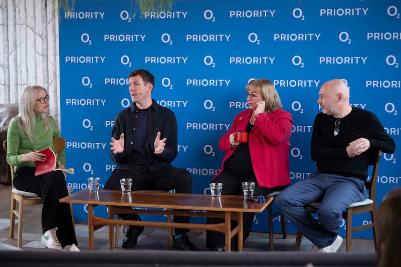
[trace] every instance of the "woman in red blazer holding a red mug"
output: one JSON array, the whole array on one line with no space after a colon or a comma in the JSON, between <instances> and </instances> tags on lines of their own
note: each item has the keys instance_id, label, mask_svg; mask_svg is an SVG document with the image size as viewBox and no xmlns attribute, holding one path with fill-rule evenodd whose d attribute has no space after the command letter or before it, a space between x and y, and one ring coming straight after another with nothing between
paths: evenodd
<instances>
[{"instance_id":1,"label":"woman in red blazer holding a red mug","mask_svg":"<svg viewBox=\"0 0 401 267\"><path fill-rule=\"evenodd\" d=\"M242 195L242 182L255 182L254 195L281 191L290 181L289 138L292 116L283 110L273 83L257 79L246 86L249 109L239 113L230 130L219 141L226 152L221 171L213 182L223 183L222 194ZM246 131L247 142L238 142L235 132ZM251 231L255 213L244 213L244 241ZM208 218L208 223L221 219ZM233 243L232 247L237 247ZM207 247L225 251L224 233L207 231Z\"/></svg>"}]
</instances>

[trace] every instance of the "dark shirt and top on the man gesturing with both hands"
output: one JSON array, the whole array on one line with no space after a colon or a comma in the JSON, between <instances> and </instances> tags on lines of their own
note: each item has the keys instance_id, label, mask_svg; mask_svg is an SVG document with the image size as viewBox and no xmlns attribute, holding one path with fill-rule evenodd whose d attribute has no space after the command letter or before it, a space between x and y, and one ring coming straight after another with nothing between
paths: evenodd
<instances>
[{"instance_id":1,"label":"dark shirt and top on the man gesturing with both hands","mask_svg":"<svg viewBox=\"0 0 401 267\"><path fill-rule=\"evenodd\" d=\"M136 118L140 112L142 111L132 104L121 111L114 120L111 136L120 139L120 134L124 133L125 141L124 152L114 154L110 151L111 159L118 164L116 169L128 169L138 173L143 165L150 171L171 166L171 162L177 156L177 121L174 113L154 100L148 109L143 110L146 114L141 113ZM160 140L167 138L164 151L160 155L154 154L157 132L160 132ZM144 158L140 158L141 155Z\"/></svg>"}]
</instances>

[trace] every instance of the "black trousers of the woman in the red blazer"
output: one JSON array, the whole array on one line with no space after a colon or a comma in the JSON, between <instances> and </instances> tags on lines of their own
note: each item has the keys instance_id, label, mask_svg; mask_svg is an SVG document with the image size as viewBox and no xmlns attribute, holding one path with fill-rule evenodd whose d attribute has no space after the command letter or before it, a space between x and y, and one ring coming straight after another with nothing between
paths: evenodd
<instances>
[{"instance_id":1,"label":"black trousers of the woman in the red blazer","mask_svg":"<svg viewBox=\"0 0 401 267\"><path fill-rule=\"evenodd\" d=\"M254 195L268 195L273 193L274 191L282 190L286 186L276 186L273 188L265 188L260 187L258 182L256 181L255 176L250 177L237 177L227 171L223 171L214 182L223 183L222 188L222 195L244 195L242 191L242 182L255 182L255 190ZM243 213L243 230L244 230L244 242L248 238L249 233L251 232L253 220L255 217L255 212L244 212ZM222 223L224 219L222 218L208 218L207 223ZM231 221L232 228L237 226L236 221ZM206 247L213 248L216 245L225 245L226 244L226 237L225 234L222 232L207 230L206 231ZM231 239L231 247L233 249L237 249L238 247L238 237L237 235Z\"/></svg>"}]
</instances>

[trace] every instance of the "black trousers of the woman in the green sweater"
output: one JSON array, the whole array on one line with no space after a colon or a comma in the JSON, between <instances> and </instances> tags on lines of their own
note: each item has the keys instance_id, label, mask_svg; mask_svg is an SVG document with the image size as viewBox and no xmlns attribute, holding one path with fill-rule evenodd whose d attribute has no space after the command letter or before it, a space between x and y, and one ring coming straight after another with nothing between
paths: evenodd
<instances>
[{"instance_id":1,"label":"black trousers of the woman in the green sweater","mask_svg":"<svg viewBox=\"0 0 401 267\"><path fill-rule=\"evenodd\" d=\"M35 176L35 167L22 167L17 169L13 183L18 190L35 193L43 199L43 233L57 227L57 238L63 247L72 243L78 245L70 204L59 202L68 195L62 171Z\"/></svg>"}]
</instances>

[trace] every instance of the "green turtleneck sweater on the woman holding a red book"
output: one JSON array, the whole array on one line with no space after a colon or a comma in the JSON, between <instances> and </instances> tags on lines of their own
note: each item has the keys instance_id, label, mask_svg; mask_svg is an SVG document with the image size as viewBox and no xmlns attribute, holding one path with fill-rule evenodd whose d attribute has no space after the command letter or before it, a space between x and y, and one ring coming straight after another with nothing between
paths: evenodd
<instances>
[{"instance_id":1,"label":"green turtleneck sweater on the woman holding a red book","mask_svg":"<svg viewBox=\"0 0 401 267\"><path fill-rule=\"evenodd\" d=\"M46 132L45 124L40 115L35 115L35 125L33 127L33 133L38 138L38 141L31 141L28 135L20 127L15 119L12 119L7 132L7 162L10 165L15 166L15 169L21 167L35 167L35 162L21 161L22 154L31 152L31 149L35 151L41 151L47 147L50 147L54 151L53 138L60 137L55 119L49 116L50 121L50 132ZM61 150L58 153L58 165L65 165L66 155L65 151Z\"/></svg>"}]
</instances>

